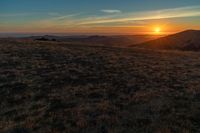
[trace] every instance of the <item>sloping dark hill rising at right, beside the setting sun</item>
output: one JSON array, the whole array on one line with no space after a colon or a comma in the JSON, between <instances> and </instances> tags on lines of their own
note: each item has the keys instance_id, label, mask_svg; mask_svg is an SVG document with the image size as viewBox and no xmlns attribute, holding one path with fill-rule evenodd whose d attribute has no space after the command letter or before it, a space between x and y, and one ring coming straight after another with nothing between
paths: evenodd
<instances>
[{"instance_id":1,"label":"sloping dark hill rising at right, beside the setting sun","mask_svg":"<svg viewBox=\"0 0 200 133\"><path fill-rule=\"evenodd\" d=\"M139 45L132 45L132 47L133 46L151 49L199 51L200 30L187 30L166 37L161 37L156 40L147 41Z\"/></svg>"}]
</instances>

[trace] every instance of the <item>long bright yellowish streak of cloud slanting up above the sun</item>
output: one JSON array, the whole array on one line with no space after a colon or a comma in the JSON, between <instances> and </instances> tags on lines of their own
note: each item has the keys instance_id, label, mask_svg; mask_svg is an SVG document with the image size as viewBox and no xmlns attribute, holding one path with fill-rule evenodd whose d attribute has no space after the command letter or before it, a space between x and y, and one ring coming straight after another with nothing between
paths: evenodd
<instances>
[{"instance_id":1,"label":"long bright yellowish streak of cloud slanting up above the sun","mask_svg":"<svg viewBox=\"0 0 200 133\"><path fill-rule=\"evenodd\" d=\"M126 17L124 17L126 16ZM171 18L184 18L200 16L200 6L188 6L172 9L163 9L156 11L134 12L109 17L105 19L91 19L83 21L82 25L91 24L105 24L105 23L123 23L128 21L145 21L145 20L158 20L158 19L171 19Z\"/></svg>"}]
</instances>

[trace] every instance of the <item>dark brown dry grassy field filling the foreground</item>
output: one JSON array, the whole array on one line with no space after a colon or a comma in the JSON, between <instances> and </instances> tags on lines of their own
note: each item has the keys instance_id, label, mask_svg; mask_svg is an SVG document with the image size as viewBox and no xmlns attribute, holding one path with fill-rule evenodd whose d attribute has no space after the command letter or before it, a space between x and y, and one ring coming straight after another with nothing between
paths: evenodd
<instances>
[{"instance_id":1,"label":"dark brown dry grassy field filling the foreground","mask_svg":"<svg viewBox=\"0 0 200 133\"><path fill-rule=\"evenodd\" d=\"M0 132L199 133L200 53L0 40Z\"/></svg>"}]
</instances>

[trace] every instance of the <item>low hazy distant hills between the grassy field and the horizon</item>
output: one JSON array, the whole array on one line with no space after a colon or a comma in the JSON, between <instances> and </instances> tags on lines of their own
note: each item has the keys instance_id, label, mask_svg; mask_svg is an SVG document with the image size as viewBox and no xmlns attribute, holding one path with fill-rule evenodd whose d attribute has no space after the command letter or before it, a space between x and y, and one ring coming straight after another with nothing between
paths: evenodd
<instances>
[{"instance_id":1,"label":"low hazy distant hills between the grassy field and the horizon","mask_svg":"<svg viewBox=\"0 0 200 133\"><path fill-rule=\"evenodd\" d=\"M32 39L35 41L57 41L67 43L82 43L89 45L103 45L103 46L120 46L126 47L138 43L157 39L161 36L152 35L118 35L118 36L32 36L25 39Z\"/></svg>"}]
</instances>

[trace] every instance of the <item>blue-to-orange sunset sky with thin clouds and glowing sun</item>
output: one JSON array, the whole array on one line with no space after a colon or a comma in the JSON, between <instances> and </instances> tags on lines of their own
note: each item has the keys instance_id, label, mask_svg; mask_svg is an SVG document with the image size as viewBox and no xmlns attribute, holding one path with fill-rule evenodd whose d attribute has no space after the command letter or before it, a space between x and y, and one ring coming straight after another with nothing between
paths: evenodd
<instances>
[{"instance_id":1,"label":"blue-to-orange sunset sky with thin clouds and glowing sun","mask_svg":"<svg viewBox=\"0 0 200 133\"><path fill-rule=\"evenodd\" d=\"M199 22L200 0L0 0L0 33L170 34Z\"/></svg>"}]
</instances>

